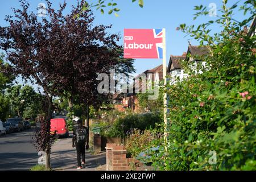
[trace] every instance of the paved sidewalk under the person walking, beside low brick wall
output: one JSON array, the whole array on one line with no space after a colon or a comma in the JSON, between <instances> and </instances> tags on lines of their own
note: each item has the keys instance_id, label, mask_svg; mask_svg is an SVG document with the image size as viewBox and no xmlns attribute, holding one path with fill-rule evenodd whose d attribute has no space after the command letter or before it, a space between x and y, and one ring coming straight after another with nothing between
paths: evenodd
<instances>
[{"instance_id":1,"label":"paved sidewalk under the person walking, beside low brick wall","mask_svg":"<svg viewBox=\"0 0 256 182\"><path fill-rule=\"evenodd\" d=\"M76 148L72 148L72 138L58 139L52 146L51 167L55 171L105 171L106 152L92 155L86 150L85 168L77 170Z\"/></svg>"}]
</instances>

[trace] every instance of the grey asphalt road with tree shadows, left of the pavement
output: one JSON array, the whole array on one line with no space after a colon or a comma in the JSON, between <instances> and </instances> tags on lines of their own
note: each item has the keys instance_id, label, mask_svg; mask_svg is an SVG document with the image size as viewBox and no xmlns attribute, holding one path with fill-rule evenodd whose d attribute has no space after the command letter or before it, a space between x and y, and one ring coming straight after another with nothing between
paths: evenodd
<instances>
[{"instance_id":1,"label":"grey asphalt road with tree shadows, left of the pavement","mask_svg":"<svg viewBox=\"0 0 256 182\"><path fill-rule=\"evenodd\" d=\"M28 170L38 163L38 153L32 146L33 130L0 137L0 170Z\"/></svg>"}]
</instances>

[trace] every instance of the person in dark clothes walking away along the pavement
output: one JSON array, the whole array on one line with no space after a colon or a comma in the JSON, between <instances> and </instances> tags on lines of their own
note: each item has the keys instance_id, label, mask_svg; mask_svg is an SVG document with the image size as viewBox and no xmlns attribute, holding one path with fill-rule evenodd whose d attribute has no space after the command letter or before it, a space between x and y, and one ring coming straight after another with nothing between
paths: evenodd
<instances>
[{"instance_id":1,"label":"person in dark clothes walking away along the pavement","mask_svg":"<svg viewBox=\"0 0 256 182\"><path fill-rule=\"evenodd\" d=\"M72 147L76 147L77 153L77 169L85 168L85 147L89 148L89 144L87 143L88 131L85 126L82 126L82 121L79 119L77 121L77 127L73 131L72 138ZM81 163L82 156L82 163Z\"/></svg>"}]
</instances>

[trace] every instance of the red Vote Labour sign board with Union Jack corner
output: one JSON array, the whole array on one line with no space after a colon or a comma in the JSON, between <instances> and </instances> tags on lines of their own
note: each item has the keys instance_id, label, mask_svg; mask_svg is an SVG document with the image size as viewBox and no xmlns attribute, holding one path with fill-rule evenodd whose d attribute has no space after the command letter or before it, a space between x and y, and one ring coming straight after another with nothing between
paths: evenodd
<instances>
[{"instance_id":1,"label":"red Vote Labour sign board with Union Jack corner","mask_svg":"<svg viewBox=\"0 0 256 182\"><path fill-rule=\"evenodd\" d=\"M162 59L162 29L125 29L124 57L131 59Z\"/></svg>"}]
</instances>

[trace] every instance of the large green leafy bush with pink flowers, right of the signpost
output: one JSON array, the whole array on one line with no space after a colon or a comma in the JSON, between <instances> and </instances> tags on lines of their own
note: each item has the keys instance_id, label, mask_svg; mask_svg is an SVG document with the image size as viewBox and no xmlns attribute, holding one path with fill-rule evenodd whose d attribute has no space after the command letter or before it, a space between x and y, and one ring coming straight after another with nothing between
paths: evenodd
<instances>
[{"instance_id":1,"label":"large green leafy bush with pink flowers, right of the signpost","mask_svg":"<svg viewBox=\"0 0 256 182\"><path fill-rule=\"evenodd\" d=\"M246 1L245 6L255 15L255 5ZM160 148L149 160L157 169L256 169L256 38L232 20L233 7L224 2L222 18L216 20L223 30L214 36L209 35L208 24L196 29L180 26L209 49L208 56L195 57L207 68L197 67L203 73L195 74L188 66L191 63L183 63L187 80L167 86L168 141L155 140ZM204 11L203 6L196 9ZM163 132L163 126L158 132ZM211 152L216 152L216 163Z\"/></svg>"}]
</instances>

